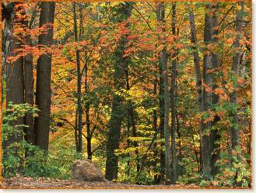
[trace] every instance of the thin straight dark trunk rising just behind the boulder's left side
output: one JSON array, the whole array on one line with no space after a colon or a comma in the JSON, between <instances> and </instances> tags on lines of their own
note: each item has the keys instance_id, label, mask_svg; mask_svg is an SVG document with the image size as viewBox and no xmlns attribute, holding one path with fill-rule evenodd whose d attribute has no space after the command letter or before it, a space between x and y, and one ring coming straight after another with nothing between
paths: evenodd
<instances>
[{"instance_id":1,"label":"thin straight dark trunk rising just behind the boulder's left side","mask_svg":"<svg viewBox=\"0 0 256 193\"><path fill-rule=\"evenodd\" d=\"M73 7L73 19L74 19L74 36L75 42L78 42L78 29L77 29L77 18L75 11L75 2L72 2ZM81 84L82 84L82 76L81 76L81 65L80 65L80 52L79 50L75 50L76 57L76 73L77 73L77 112L78 112L78 146L77 152L82 152L82 102L81 102Z\"/></svg>"}]
</instances>

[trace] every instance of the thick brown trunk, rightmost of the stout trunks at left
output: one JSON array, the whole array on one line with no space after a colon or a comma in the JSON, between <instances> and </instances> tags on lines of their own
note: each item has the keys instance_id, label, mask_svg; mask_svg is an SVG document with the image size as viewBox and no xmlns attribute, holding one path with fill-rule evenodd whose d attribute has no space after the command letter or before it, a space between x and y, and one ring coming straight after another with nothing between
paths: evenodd
<instances>
[{"instance_id":1,"label":"thick brown trunk, rightmost of the stout trunks at left","mask_svg":"<svg viewBox=\"0 0 256 193\"><path fill-rule=\"evenodd\" d=\"M38 43L51 47L53 43L55 2L42 2L40 5L39 26L48 25L46 34L40 34ZM44 53L37 60L37 96L36 105L40 112L35 119L37 146L48 150L50 131L50 106L51 106L51 54Z\"/></svg>"}]
</instances>

